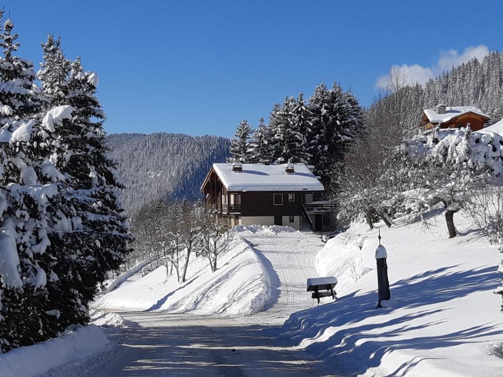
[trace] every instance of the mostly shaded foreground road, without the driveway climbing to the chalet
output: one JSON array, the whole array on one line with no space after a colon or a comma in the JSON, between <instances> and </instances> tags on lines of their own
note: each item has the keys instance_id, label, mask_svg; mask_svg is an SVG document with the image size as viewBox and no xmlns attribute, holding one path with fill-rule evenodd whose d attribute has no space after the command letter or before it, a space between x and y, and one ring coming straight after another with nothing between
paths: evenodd
<instances>
[{"instance_id":1,"label":"mostly shaded foreground road, without the driveway climbing to the chalet","mask_svg":"<svg viewBox=\"0 0 503 377\"><path fill-rule=\"evenodd\" d=\"M185 314L121 313L136 322L122 345L46 376L322 376L322 365L260 325Z\"/></svg>"}]
</instances>

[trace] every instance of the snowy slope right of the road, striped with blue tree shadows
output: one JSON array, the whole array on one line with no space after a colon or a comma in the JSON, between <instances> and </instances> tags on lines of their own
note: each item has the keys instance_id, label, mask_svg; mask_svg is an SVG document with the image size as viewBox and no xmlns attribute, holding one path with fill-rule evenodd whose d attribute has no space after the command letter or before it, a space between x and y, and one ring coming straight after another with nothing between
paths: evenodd
<instances>
[{"instance_id":1,"label":"snowy slope right of the road, striped with blue tree shadows","mask_svg":"<svg viewBox=\"0 0 503 377\"><path fill-rule=\"evenodd\" d=\"M348 375L501 375L498 251L463 213L452 239L443 214L430 215L429 232L404 219L381 227L390 308L376 309L378 231L353 224L316 258L319 275L338 278L338 299L293 314L282 335Z\"/></svg>"}]
</instances>

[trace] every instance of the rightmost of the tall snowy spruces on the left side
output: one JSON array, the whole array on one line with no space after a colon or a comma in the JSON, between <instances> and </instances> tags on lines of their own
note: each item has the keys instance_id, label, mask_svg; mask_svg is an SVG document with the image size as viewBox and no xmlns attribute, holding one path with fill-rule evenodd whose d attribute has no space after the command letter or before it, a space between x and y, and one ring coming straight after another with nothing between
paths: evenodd
<instances>
[{"instance_id":1,"label":"rightmost of the tall snowy spruces on the left side","mask_svg":"<svg viewBox=\"0 0 503 377\"><path fill-rule=\"evenodd\" d=\"M73 145L68 143L71 154L62 172L73 178L71 194L75 200L87 197L78 215L83 229L94 238L93 245L82 253L86 260L80 287L84 305L93 299L97 284L122 263L131 240L121 199L124 186L105 139L106 116L96 98L97 85L96 73L85 72L79 59L72 63L67 101L74 109L72 123L79 133L70 139Z\"/></svg>"}]
</instances>

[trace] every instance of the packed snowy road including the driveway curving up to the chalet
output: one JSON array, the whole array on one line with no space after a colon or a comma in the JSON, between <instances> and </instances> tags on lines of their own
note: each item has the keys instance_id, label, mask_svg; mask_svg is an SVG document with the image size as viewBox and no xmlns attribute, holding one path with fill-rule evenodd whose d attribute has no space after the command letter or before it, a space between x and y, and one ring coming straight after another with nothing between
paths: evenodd
<instances>
[{"instance_id":1,"label":"packed snowy road including the driveway curving up to the chalet","mask_svg":"<svg viewBox=\"0 0 503 377\"><path fill-rule=\"evenodd\" d=\"M325 366L271 335L271 326L313 305L305 281L315 276L314 257L322 246L310 233L243 235L269 261L280 281L277 302L244 318L127 312L133 323L118 337L119 347L77 366L45 376L325 376ZM110 336L110 335L109 335ZM68 374L69 373L69 374Z\"/></svg>"}]
</instances>

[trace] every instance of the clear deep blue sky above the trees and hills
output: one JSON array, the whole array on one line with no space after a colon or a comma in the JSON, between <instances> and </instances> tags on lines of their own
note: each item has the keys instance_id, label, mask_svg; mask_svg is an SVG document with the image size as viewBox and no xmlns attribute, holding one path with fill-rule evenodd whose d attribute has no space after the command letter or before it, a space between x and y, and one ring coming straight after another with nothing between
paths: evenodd
<instances>
[{"instance_id":1,"label":"clear deep blue sky above the trees and hills","mask_svg":"<svg viewBox=\"0 0 503 377\"><path fill-rule=\"evenodd\" d=\"M500 0L4 4L20 56L37 65L40 41L60 34L66 55L99 74L109 133L231 136L320 81L368 105L393 64L424 80L503 48Z\"/></svg>"}]
</instances>

